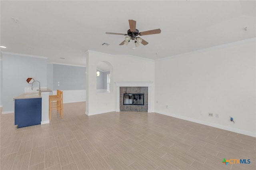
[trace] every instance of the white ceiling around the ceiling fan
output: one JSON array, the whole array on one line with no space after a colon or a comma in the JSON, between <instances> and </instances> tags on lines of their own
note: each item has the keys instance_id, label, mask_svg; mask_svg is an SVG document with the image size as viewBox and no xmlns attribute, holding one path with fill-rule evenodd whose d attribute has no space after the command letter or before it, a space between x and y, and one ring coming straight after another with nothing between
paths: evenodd
<instances>
[{"instance_id":1,"label":"white ceiling around the ceiling fan","mask_svg":"<svg viewBox=\"0 0 256 170\"><path fill-rule=\"evenodd\" d=\"M55 63L85 65L87 50L159 59L256 36L255 0L0 3L0 43L7 47L1 50L45 56ZM126 34L130 19L137 21L140 32L162 32L141 36L149 44L136 49L134 43L118 45L122 35L105 34Z\"/></svg>"}]
</instances>

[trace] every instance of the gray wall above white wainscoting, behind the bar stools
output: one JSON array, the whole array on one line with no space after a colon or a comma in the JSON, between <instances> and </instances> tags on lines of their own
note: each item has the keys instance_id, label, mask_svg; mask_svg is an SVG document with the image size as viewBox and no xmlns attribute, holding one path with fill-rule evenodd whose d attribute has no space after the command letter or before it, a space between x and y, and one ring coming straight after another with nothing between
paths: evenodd
<instances>
[{"instance_id":1,"label":"gray wall above white wainscoting, behind the bar stools","mask_svg":"<svg viewBox=\"0 0 256 170\"><path fill-rule=\"evenodd\" d=\"M86 67L53 64L53 90L83 90L86 88ZM58 86L60 82L60 86Z\"/></svg>"}]
</instances>

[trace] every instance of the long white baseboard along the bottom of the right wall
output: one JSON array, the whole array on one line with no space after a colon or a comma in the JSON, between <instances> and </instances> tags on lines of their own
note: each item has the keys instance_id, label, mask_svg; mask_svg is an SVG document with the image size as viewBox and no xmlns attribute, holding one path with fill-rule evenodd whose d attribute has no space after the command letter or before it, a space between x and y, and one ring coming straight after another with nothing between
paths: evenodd
<instances>
[{"instance_id":1,"label":"long white baseboard along the bottom of the right wall","mask_svg":"<svg viewBox=\"0 0 256 170\"><path fill-rule=\"evenodd\" d=\"M162 111L155 111L155 113L159 113L159 114L170 116L170 117L175 117L175 118L178 118L178 119L182 119L182 120L186 120L186 121L190 121L190 122L194 122L194 123L199 123L199 124L202 124L202 125L207 125L207 126L210 126L210 127L220 128L220 129L223 129L223 130L228 130L228 131L231 131L231 132L240 133L240 134L244 134L244 135L247 135L247 136L256 137L256 133L249 132L249 131L246 131L246 130L240 130L240 129L236 129L236 128L226 127L226 126L219 125L219 124L216 124L216 123L205 122L205 121L201 121L201 120L198 120L198 119L192 119L192 118L189 118L189 117L184 117L184 116L181 116L181 115L174 115L174 114L166 113L166 112L162 112Z\"/></svg>"}]
</instances>

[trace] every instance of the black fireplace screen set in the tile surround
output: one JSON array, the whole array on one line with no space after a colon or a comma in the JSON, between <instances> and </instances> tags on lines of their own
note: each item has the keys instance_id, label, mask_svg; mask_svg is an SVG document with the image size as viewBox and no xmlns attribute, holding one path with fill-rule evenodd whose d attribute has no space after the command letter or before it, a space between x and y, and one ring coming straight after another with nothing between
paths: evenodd
<instances>
[{"instance_id":1,"label":"black fireplace screen set in the tile surround","mask_svg":"<svg viewBox=\"0 0 256 170\"><path fill-rule=\"evenodd\" d=\"M144 105L144 93L124 93L124 105Z\"/></svg>"}]
</instances>

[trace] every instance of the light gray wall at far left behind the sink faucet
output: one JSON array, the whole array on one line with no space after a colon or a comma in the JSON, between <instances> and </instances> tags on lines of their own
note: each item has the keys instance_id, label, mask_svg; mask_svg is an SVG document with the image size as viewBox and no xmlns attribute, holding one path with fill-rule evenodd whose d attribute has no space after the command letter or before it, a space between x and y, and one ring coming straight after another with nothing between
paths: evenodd
<instances>
[{"instance_id":1,"label":"light gray wall at far left behind the sink faucet","mask_svg":"<svg viewBox=\"0 0 256 170\"><path fill-rule=\"evenodd\" d=\"M24 93L24 87L31 87L26 82L28 77L40 81L41 87L46 87L46 59L3 54L2 66L3 111L14 111L13 98ZM38 83L35 84L35 87L38 87Z\"/></svg>"}]
</instances>

